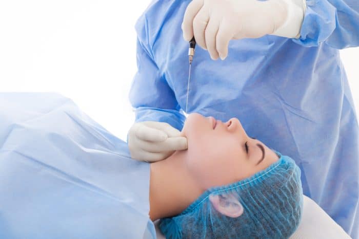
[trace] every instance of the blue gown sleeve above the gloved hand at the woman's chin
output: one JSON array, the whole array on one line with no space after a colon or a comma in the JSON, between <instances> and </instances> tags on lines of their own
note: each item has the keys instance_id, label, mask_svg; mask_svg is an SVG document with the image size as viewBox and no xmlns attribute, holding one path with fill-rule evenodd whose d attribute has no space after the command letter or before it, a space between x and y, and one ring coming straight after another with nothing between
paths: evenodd
<instances>
[{"instance_id":1,"label":"blue gown sleeve above the gloved hand at the woman's chin","mask_svg":"<svg viewBox=\"0 0 359 239\"><path fill-rule=\"evenodd\" d=\"M153 58L145 16L137 21L136 31L137 73L129 94L130 102L135 107L135 122L166 122L181 131L185 116L179 112L181 107L174 92Z\"/></svg>"}]
</instances>

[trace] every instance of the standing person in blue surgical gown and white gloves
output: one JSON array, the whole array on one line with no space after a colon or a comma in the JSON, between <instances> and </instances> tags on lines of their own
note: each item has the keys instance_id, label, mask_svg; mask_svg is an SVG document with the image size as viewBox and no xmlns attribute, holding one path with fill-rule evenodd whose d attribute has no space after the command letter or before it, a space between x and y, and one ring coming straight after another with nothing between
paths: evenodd
<instances>
[{"instance_id":1,"label":"standing person in blue surgical gown and white gloves","mask_svg":"<svg viewBox=\"0 0 359 239\"><path fill-rule=\"evenodd\" d=\"M339 52L359 45L356 0L155 0L136 31L133 158L187 146L179 131L194 35L187 113L240 119L295 159L304 194L359 238L358 122Z\"/></svg>"}]
</instances>

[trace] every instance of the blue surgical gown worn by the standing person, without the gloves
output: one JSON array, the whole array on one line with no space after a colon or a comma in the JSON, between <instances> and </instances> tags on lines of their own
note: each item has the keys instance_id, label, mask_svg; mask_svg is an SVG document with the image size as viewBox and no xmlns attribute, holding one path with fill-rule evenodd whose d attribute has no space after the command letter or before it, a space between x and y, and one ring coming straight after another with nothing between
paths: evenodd
<instances>
[{"instance_id":1,"label":"blue surgical gown worn by the standing person, without the gloves","mask_svg":"<svg viewBox=\"0 0 359 239\"><path fill-rule=\"evenodd\" d=\"M189 0L156 0L138 19L131 104L136 121L182 129ZM358 122L339 49L359 45L357 0L307 0L301 36L232 40L213 61L196 48L188 113L241 120L248 135L295 159L304 193L359 236Z\"/></svg>"}]
</instances>

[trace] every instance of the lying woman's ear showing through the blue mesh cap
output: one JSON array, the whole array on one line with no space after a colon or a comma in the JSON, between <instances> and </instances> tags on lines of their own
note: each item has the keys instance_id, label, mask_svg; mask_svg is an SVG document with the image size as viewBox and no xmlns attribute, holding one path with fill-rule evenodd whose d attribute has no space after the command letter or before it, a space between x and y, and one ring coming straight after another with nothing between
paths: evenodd
<instances>
[{"instance_id":1,"label":"lying woman's ear showing through the blue mesh cap","mask_svg":"<svg viewBox=\"0 0 359 239\"><path fill-rule=\"evenodd\" d=\"M242 204L232 194L211 194L209 201L212 206L223 215L230 218L238 218L243 213Z\"/></svg>"}]
</instances>

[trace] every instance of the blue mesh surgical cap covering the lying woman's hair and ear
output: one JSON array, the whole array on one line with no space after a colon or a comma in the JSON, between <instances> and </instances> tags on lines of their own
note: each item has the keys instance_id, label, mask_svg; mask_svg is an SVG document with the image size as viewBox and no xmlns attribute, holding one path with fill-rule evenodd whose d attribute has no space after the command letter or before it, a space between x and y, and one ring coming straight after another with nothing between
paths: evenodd
<instances>
[{"instance_id":1,"label":"blue mesh surgical cap covering the lying woman's hair and ear","mask_svg":"<svg viewBox=\"0 0 359 239\"><path fill-rule=\"evenodd\" d=\"M234 184L205 191L186 210L162 219L166 238L288 238L303 209L301 170L288 156Z\"/></svg>"}]
</instances>

